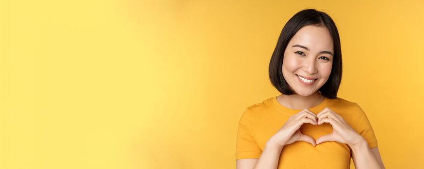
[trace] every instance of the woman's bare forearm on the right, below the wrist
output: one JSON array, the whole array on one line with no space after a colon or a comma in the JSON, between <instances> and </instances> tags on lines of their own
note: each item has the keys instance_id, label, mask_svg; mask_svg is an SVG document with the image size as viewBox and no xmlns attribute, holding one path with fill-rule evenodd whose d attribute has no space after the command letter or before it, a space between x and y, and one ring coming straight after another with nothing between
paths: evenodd
<instances>
[{"instance_id":1,"label":"woman's bare forearm on the right, below the wrist","mask_svg":"<svg viewBox=\"0 0 424 169\"><path fill-rule=\"evenodd\" d=\"M365 139L352 148L352 158L356 169L386 169L381 160L378 148L370 149Z\"/></svg>"}]
</instances>

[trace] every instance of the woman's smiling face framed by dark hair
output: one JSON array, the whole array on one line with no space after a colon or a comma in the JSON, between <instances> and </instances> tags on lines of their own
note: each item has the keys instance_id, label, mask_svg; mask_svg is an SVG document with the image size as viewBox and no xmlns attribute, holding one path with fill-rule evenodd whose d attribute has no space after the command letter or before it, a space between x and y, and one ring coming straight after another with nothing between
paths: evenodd
<instances>
[{"instance_id":1,"label":"woman's smiling face framed by dark hair","mask_svg":"<svg viewBox=\"0 0 424 169\"><path fill-rule=\"evenodd\" d=\"M298 95L317 92L330 76L333 39L325 26L305 26L293 36L284 51L283 76Z\"/></svg>"}]
</instances>

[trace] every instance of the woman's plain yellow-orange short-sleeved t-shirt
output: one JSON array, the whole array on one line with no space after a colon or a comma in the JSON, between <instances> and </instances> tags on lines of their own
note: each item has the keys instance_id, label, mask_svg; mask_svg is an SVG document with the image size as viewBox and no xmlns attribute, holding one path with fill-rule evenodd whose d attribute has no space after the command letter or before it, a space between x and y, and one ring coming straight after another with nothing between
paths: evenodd
<instances>
[{"instance_id":1,"label":"woman's plain yellow-orange short-sleeved t-shirt","mask_svg":"<svg viewBox=\"0 0 424 169\"><path fill-rule=\"evenodd\" d=\"M368 142L370 148L377 146L374 130L357 103L341 98L326 98L309 110L318 114L326 107L341 115L344 121ZM284 107L276 97L247 107L239 121L236 160L259 158L269 138L285 124L291 115L300 111ZM300 127L303 134L315 140L330 134L332 130L329 123L319 126L305 123ZM349 169L351 157L351 149L347 144L327 141L314 147L309 142L296 141L283 147L278 169Z\"/></svg>"}]
</instances>

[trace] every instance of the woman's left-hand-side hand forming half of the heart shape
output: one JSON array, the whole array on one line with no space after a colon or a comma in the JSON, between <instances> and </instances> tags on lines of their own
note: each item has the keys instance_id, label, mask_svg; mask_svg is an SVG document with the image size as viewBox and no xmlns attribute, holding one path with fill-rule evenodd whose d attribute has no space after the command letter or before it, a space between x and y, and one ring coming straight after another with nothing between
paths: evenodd
<instances>
[{"instance_id":1,"label":"woman's left-hand-side hand forming half of the heart shape","mask_svg":"<svg viewBox=\"0 0 424 169\"><path fill-rule=\"evenodd\" d=\"M304 123L310 123L317 125L317 116L310 112L308 109L304 109L297 114L289 117L286 123L271 137L271 141L277 143L277 146L283 147L284 145L291 144L295 141L306 141L316 146L315 140L307 135L300 132L300 127Z\"/></svg>"}]
</instances>

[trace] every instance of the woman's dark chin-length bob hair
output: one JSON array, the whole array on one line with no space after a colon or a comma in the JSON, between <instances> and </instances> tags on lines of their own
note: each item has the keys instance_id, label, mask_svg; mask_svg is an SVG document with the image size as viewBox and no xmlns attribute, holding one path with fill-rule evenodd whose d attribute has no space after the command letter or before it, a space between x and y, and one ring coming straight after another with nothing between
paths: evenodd
<instances>
[{"instance_id":1,"label":"woman's dark chin-length bob hair","mask_svg":"<svg viewBox=\"0 0 424 169\"><path fill-rule=\"evenodd\" d=\"M337 31L334 21L328 14L315 9L305 9L294 14L281 30L277 46L269 62L270 81L279 92L285 95L295 94L295 92L289 88L289 84L287 84L283 77L282 65L284 51L294 34L296 34L300 28L308 25L325 26L328 28L333 38L334 56L331 73L326 84L321 86L318 92L328 99L336 99L337 91L342 81L342 49L340 46L339 32Z\"/></svg>"}]
</instances>

